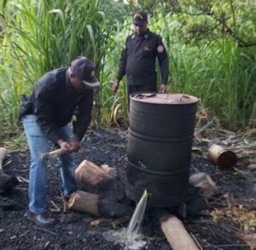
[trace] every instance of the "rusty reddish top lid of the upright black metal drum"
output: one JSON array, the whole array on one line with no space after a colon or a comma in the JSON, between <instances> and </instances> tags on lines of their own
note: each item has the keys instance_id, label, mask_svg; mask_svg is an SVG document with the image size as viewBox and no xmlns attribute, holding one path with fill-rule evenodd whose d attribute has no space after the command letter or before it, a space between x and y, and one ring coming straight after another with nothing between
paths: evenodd
<instances>
[{"instance_id":1,"label":"rusty reddish top lid of the upright black metal drum","mask_svg":"<svg viewBox=\"0 0 256 250\"><path fill-rule=\"evenodd\" d=\"M184 94L164 94L155 92L137 92L130 95L131 100L155 104L190 104L198 102L195 96Z\"/></svg>"}]
</instances>

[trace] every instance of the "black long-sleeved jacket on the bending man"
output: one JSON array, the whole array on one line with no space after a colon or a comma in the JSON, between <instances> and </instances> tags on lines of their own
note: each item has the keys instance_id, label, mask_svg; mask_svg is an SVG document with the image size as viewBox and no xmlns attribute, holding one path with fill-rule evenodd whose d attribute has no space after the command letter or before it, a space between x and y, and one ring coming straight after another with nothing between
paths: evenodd
<instances>
[{"instance_id":1,"label":"black long-sleeved jacket on the bending man","mask_svg":"<svg viewBox=\"0 0 256 250\"><path fill-rule=\"evenodd\" d=\"M32 111L44 135L56 143L61 137L58 129L67 125L76 111L73 134L81 140L90 124L93 90L76 90L67 68L55 69L39 79L30 97Z\"/></svg>"}]
</instances>

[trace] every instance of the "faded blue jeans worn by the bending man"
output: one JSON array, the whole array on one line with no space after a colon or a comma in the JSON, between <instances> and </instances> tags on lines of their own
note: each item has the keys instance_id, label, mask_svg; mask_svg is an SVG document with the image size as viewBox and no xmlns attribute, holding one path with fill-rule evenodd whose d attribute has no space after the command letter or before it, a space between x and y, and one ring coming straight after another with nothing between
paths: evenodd
<instances>
[{"instance_id":1,"label":"faded blue jeans worn by the bending man","mask_svg":"<svg viewBox=\"0 0 256 250\"><path fill-rule=\"evenodd\" d=\"M41 154L49 152L53 145L44 136L38 123L37 117L33 114L26 115L23 125L31 154L31 166L29 172L29 210L34 213L44 213L47 211L47 162L41 160ZM67 141L72 137L72 131L68 125L58 130L60 137ZM77 190L75 180L75 164L70 154L63 154L59 157L61 164L61 179L64 196L68 197Z\"/></svg>"}]
</instances>

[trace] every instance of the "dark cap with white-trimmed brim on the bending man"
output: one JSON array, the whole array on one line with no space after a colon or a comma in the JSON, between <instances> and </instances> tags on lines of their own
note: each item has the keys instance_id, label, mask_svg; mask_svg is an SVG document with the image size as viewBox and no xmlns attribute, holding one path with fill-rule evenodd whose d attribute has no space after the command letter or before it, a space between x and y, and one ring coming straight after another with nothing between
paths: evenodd
<instances>
[{"instance_id":1,"label":"dark cap with white-trimmed brim on the bending man","mask_svg":"<svg viewBox=\"0 0 256 250\"><path fill-rule=\"evenodd\" d=\"M96 78L95 66L86 57L79 56L73 60L70 65L70 70L88 87L96 88L100 86L100 83Z\"/></svg>"}]
</instances>

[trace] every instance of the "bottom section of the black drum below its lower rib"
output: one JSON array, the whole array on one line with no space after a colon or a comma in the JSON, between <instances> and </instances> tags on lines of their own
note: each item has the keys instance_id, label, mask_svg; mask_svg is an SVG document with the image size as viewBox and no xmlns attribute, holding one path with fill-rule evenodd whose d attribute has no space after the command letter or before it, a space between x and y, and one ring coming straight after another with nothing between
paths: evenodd
<instances>
[{"instance_id":1,"label":"bottom section of the black drum below its lower rib","mask_svg":"<svg viewBox=\"0 0 256 250\"><path fill-rule=\"evenodd\" d=\"M148 191L148 206L172 207L180 206L185 200L189 189L189 169L173 174L156 175L145 172L129 162L125 195L138 202L144 192ZM154 184L153 184L154 183Z\"/></svg>"}]
</instances>

